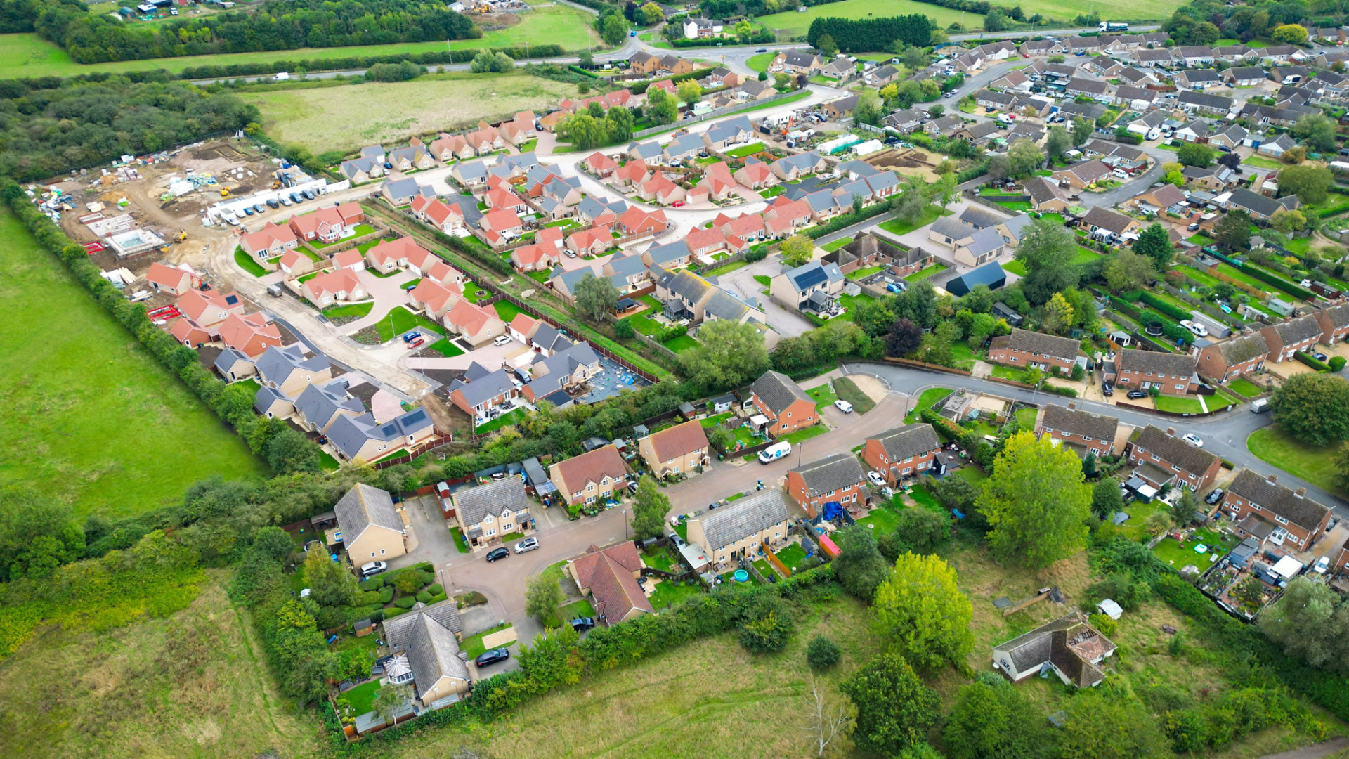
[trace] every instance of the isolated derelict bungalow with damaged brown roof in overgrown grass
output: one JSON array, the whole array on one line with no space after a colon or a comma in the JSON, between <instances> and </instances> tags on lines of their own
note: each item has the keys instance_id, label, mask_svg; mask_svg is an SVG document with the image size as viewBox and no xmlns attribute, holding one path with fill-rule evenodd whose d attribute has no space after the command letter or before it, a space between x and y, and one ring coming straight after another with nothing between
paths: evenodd
<instances>
[{"instance_id":1,"label":"isolated derelict bungalow with damaged brown roof in overgrown grass","mask_svg":"<svg viewBox=\"0 0 1349 759\"><path fill-rule=\"evenodd\" d=\"M1052 671L1063 685L1093 687L1105 679L1101 664L1114 650L1081 612L1072 612L994 646L993 667L1012 682Z\"/></svg>"}]
</instances>

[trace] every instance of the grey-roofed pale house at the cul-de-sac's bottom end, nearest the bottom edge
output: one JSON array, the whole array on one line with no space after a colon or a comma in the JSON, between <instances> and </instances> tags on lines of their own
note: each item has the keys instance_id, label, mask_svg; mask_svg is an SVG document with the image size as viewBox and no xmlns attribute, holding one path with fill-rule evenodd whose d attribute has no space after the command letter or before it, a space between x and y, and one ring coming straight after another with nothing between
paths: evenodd
<instances>
[{"instance_id":1,"label":"grey-roofed pale house at the cul-de-sac's bottom end, nearest the bottom edge","mask_svg":"<svg viewBox=\"0 0 1349 759\"><path fill-rule=\"evenodd\" d=\"M391 654L384 675L391 685L413 683L424 709L448 706L467 697L471 678L459 648L464 625L453 601L387 617L383 627Z\"/></svg>"}]
</instances>

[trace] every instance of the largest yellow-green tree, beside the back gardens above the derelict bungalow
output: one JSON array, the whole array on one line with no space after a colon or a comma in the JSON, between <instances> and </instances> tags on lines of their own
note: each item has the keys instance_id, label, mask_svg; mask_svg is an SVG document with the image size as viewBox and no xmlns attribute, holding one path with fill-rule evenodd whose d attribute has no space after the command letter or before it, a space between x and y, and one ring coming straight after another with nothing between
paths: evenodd
<instances>
[{"instance_id":1,"label":"largest yellow-green tree, beside the back gardens above the derelict bungalow","mask_svg":"<svg viewBox=\"0 0 1349 759\"><path fill-rule=\"evenodd\" d=\"M979 508L993 531L989 547L1004 562L1043 569L1078 552L1087 535L1091 489L1068 448L1017 432L998 454Z\"/></svg>"}]
</instances>

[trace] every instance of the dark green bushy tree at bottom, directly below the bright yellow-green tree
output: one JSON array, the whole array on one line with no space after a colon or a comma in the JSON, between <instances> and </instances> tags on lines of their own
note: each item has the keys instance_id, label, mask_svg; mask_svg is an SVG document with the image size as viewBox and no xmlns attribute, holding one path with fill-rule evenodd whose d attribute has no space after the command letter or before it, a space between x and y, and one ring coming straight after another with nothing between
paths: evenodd
<instances>
[{"instance_id":1,"label":"dark green bushy tree at bottom, directly below the bright yellow-green tree","mask_svg":"<svg viewBox=\"0 0 1349 759\"><path fill-rule=\"evenodd\" d=\"M839 685L857 708L853 741L873 754L893 756L921 744L936 723L942 698L923 685L904 658L885 652Z\"/></svg>"}]
</instances>

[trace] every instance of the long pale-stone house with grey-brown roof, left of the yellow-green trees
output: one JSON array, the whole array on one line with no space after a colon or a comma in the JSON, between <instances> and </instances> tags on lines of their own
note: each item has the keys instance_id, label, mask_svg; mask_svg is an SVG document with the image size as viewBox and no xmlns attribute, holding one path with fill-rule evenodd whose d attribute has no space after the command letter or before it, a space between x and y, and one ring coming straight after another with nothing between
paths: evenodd
<instances>
[{"instance_id":1,"label":"long pale-stone house with grey-brown roof, left of the yellow-green trees","mask_svg":"<svg viewBox=\"0 0 1349 759\"><path fill-rule=\"evenodd\" d=\"M786 493L766 488L688 520L688 542L723 571L737 559L757 556L765 546L785 543L791 523Z\"/></svg>"}]
</instances>

